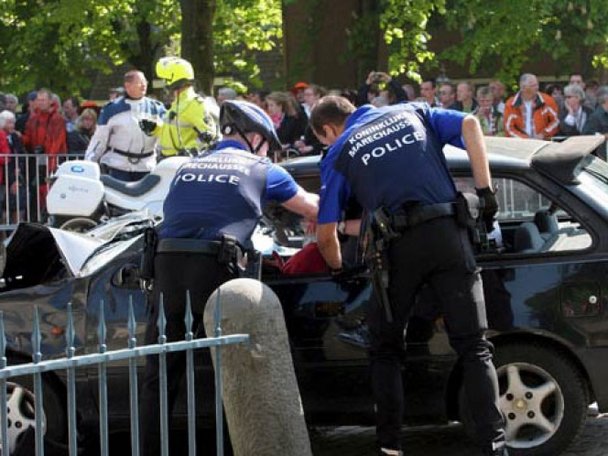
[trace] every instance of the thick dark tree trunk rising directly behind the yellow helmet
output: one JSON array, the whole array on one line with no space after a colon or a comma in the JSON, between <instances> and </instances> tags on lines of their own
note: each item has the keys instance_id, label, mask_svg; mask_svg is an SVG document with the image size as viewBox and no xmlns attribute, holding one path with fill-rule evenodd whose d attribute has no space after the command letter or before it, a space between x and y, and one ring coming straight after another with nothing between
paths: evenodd
<instances>
[{"instance_id":1,"label":"thick dark tree trunk rising directly behind the yellow helmet","mask_svg":"<svg viewBox=\"0 0 608 456\"><path fill-rule=\"evenodd\" d=\"M216 0L180 0L179 3L182 10L182 57L192 63L197 88L212 94Z\"/></svg>"}]
</instances>

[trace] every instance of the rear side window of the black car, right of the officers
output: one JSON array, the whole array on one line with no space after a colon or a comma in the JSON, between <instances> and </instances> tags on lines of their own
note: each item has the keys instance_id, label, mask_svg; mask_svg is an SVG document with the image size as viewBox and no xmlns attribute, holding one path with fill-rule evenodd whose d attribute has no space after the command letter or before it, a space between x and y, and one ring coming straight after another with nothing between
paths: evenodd
<instances>
[{"instance_id":1,"label":"rear side window of the black car, right of the officers","mask_svg":"<svg viewBox=\"0 0 608 456\"><path fill-rule=\"evenodd\" d=\"M456 188L474 192L472 177L456 177ZM525 182L495 178L498 213L494 230L489 233L488 253L548 255L584 250L592 238L570 214Z\"/></svg>"}]
</instances>

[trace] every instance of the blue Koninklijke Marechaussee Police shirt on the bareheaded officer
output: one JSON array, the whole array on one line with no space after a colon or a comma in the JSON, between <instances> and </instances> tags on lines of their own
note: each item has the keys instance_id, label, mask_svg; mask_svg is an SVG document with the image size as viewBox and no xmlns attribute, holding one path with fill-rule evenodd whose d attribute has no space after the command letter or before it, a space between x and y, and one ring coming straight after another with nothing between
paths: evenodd
<instances>
[{"instance_id":1,"label":"blue Koninklijke Marechaussee Police shirt on the bareheaded officer","mask_svg":"<svg viewBox=\"0 0 608 456\"><path fill-rule=\"evenodd\" d=\"M368 211L453 201L443 146L464 147L465 115L426 103L358 108L321 162L318 222L341 220L351 194Z\"/></svg>"}]
</instances>

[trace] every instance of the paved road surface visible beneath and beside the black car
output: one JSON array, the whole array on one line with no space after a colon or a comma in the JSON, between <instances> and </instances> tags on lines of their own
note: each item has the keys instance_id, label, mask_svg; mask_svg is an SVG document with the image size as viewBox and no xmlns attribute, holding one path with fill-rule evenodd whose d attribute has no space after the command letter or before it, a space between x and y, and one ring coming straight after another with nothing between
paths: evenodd
<instances>
[{"instance_id":1,"label":"paved road surface visible beneath and beside the black car","mask_svg":"<svg viewBox=\"0 0 608 456\"><path fill-rule=\"evenodd\" d=\"M312 431L314 456L375 456L374 429L370 427L318 428ZM476 447L458 424L405 429L403 446L408 456L473 456ZM608 414L589 417L585 429L562 456L608 455Z\"/></svg>"}]
</instances>

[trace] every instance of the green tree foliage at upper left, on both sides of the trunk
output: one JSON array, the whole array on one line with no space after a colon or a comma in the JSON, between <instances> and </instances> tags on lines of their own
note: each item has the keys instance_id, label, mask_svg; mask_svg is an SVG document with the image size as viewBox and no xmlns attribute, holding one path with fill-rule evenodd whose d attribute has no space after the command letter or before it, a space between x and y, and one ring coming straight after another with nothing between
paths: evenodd
<instances>
[{"instance_id":1,"label":"green tree foliage at upper left, on both sides of the trunk","mask_svg":"<svg viewBox=\"0 0 608 456\"><path fill-rule=\"evenodd\" d=\"M216 68L259 74L254 51L281 40L280 0L217 0ZM47 86L61 95L90 88L96 71L125 62L152 77L163 48L179 41L174 0L2 0L0 89Z\"/></svg>"}]
</instances>

